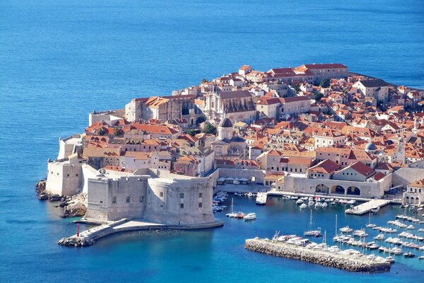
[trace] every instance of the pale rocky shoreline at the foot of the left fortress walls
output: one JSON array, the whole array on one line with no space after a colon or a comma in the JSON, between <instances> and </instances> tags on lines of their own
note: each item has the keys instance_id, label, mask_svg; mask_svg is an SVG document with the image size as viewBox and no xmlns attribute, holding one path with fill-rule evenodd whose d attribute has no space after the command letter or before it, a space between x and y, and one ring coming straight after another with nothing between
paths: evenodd
<instances>
[{"instance_id":1,"label":"pale rocky shoreline at the foot of the left fortress walls","mask_svg":"<svg viewBox=\"0 0 424 283\"><path fill-rule=\"evenodd\" d=\"M84 216L87 211L87 195L79 193L73 196L54 195L46 192L47 180L40 180L35 184L35 192L38 200L48 200L49 202L61 202L58 207L63 207L64 212L61 217Z\"/></svg>"}]
</instances>

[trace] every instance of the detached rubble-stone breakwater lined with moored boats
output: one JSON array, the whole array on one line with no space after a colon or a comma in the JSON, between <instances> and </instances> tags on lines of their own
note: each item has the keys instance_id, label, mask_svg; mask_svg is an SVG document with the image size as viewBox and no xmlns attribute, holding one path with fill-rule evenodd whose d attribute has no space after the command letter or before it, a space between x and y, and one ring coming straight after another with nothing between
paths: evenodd
<instances>
[{"instance_id":1,"label":"detached rubble-stone breakwater lined with moored boats","mask_svg":"<svg viewBox=\"0 0 424 283\"><path fill-rule=\"evenodd\" d=\"M245 243L247 250L253 250L267 255L275 255L293 260L304 260L341 270L352 272L379 272L390 270L390 263L384 261L373 261L365 257L354 258L349 255L329 253L323 250L310 250L288 243L274 242L268 239L247 239Z\"/></svg>"}]
</instances>

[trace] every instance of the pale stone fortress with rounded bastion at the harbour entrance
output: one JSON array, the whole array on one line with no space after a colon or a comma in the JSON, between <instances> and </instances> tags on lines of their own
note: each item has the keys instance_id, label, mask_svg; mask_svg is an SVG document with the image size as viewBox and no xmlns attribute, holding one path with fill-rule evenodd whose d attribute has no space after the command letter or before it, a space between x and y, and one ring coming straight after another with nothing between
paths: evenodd
<instances>
[{"instance_id":1,"label":"pale stone fortress with rounded bastion at the harbour entrance","mask_svg":"<svg viewBox=\"0 0 424 283\"><path fill-rule=\"evenodd\" d=\"M134 173L95 170L78 154L81 138L75 135L59 139L59 156L47 163L46 192L60 196L86 194L86 220L107 222L125 218L168 225L221 225L212 212L211 178L150 168Z\"/></svg>"}]
</instances>

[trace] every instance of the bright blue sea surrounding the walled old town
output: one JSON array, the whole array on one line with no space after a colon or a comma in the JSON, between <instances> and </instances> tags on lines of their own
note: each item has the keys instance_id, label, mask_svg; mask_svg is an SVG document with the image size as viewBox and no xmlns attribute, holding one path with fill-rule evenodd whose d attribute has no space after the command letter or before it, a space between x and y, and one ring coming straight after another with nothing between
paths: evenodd
<instances>
[{"instance_id":1,"label":"bright blue sea surrounding the walled old town","mask_svg":"<svg viewBox=\"0 0 424 283\"><path fill-rule=\"evenodd\" d=\"M424 88L424 1L0 0L0 282L424 282L424 261L356 274L243 248L245 238L300 233L308 212L271 198L251 223L134 233L63 248L75 233L34 185L59 137L83 131L88 112L169 95L242 64L254 69L340 62L391 83ZM377 224L393 219L382 209ZM367 217L314 212L332 237ZM418 253L418 252L417 252Z\"/></svg>"}]
</instances>

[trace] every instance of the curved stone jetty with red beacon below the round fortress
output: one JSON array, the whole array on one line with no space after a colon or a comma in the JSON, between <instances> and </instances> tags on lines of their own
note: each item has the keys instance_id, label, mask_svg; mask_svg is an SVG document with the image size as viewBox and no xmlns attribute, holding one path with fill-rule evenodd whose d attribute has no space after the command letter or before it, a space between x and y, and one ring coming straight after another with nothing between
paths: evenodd
<instances>
[{"instance_id":1,"label":"curved stone jetty with red beacon below the round fortress","mask_svg":"<svg viewBox=\"0 0 424 283\"><path fill-rule=\"evenodd\" d=\"M213 221L204 224L159 224L143 219L121 219L110 223L102 224L92 229L88 229L75 235L61 238L57 243L61 246L91 246L100 238L112 235L114 233L126 231L143 231L143 230L193 230L193 229L208 229L213 227L223 226L222 221Z\"/></svg>"}]
</instances>

